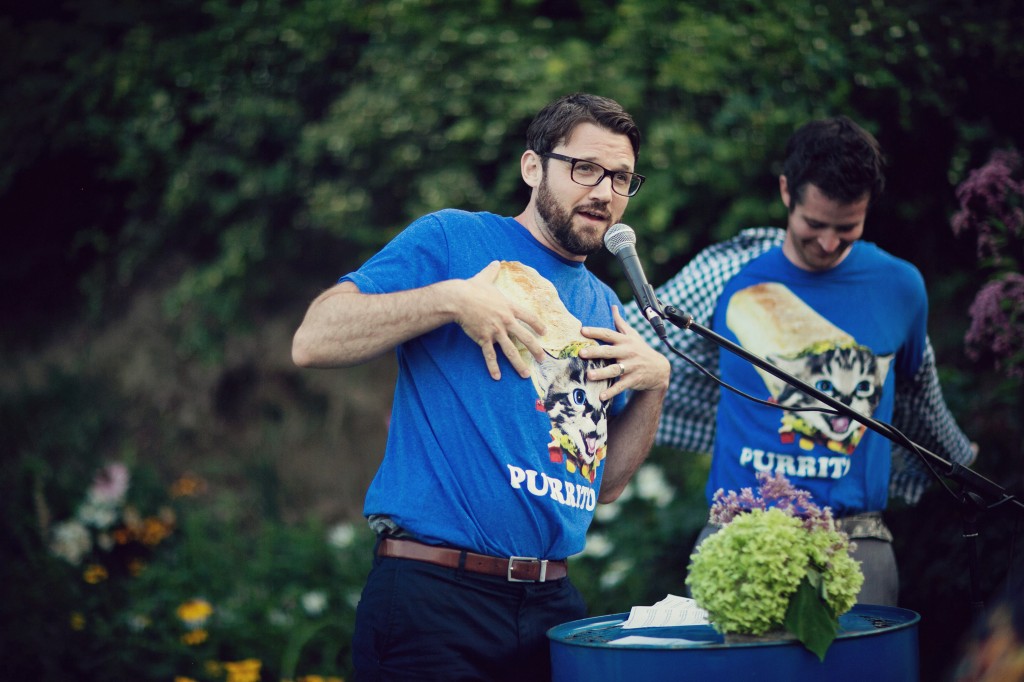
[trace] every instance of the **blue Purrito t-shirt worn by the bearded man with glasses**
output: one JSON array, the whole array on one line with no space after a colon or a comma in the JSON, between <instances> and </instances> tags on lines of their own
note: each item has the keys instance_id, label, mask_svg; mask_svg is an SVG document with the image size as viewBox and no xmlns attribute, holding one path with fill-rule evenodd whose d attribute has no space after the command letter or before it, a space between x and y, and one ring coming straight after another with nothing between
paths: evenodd
<instances>
[{"instance_id":1,"label":"blue Purrito t-shirt worn by the bearded man with glasses","mask_svg":"<svg viewBox=\"0 0 1024 682\"><path fill-rule=\"evenodd\" d=\"M366 294L392 293L469 279L495 260L537 269L585 326L614 328L611 306L622 304L610 288L513 218L489 213L424 216L342 280ZM535 365L534 378L524 379L499 353L495 381L480 347L455 324L396 353L387 447L364 513L386 514L422 542L495 556L580 552L604 471L609 416L596 398L600 387L582 378L584 361L568 352L546 361L544 372ZM624 403L616 396L612 412Z\"/></svg>"}]
</instances>

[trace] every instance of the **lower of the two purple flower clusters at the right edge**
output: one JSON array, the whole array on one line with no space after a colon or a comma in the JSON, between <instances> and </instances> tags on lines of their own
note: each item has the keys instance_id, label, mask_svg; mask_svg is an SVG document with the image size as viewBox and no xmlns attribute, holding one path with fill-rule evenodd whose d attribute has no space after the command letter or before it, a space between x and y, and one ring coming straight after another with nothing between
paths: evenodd
<instances>
[{"instance_id":1,"label":"lower of the two purple flower clusters at the right edge","mask_svg":"<svg viewBox=\"0 0 1024 682\"><path fill-rule=\"evenodd\" d=\"M972 359L991 354L995 366L1024 378L1024 274L1010 272L978 292L971 304L967 353Z\"/></svg>"}]
</instances>

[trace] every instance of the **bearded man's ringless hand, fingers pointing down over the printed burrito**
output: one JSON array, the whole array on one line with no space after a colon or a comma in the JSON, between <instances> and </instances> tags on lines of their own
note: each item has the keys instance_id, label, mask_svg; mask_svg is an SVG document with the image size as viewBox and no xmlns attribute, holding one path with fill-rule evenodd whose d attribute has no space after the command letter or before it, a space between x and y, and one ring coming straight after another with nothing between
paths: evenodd
<instances>
[{"instance_id":1,"label":"bearded man's ringless hand, fingers pointing down over the printed burrito","mask_svg":"<svg viewBox=\"0 0 1024 682\"><path fill-rule=\"evenodd\" d=\"M500 351L519 376L529 377L530 368L516 349L518 340L537 358L544 359L538 339L545 332L544 323L534 312L507 299L495 286L501 266L494 261L469 280L462 281L456 322L483 351L487 373L496 381L502 378L498 367ZM496 349L495 346L498 346Z\"/></svg>"}]
</instances>

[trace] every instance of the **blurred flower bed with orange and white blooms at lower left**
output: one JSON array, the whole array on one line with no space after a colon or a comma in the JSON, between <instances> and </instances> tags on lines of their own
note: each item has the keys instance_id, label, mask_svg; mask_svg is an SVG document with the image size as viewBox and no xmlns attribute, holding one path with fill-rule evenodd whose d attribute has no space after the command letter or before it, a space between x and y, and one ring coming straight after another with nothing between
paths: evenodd
<instances>
[{"instance_id":1,"label":"blurred flower bed with orange and white blooms at lower left","mask_svg":"<svg viewBox=\"0 0 1024 682\"><path fill-rule=\"evenodd\" d=\"M39 532L17 556L34 580L18 581L4 607L19 624L4 643L8 679L311 682L349 673L372 546L364 524L253 518L200 476L164 487L120 462L87 489L58 495L17 510ZM70 517L46 522L70 500Z\"/></svg>"}]
</instances>

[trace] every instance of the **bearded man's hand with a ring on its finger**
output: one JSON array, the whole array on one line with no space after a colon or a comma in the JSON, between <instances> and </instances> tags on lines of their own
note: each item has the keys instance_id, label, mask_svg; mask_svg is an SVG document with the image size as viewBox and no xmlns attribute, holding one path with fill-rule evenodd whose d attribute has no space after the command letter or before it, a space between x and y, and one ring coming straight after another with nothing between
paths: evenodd
<instances>
[{"instance_id":1,"label":"bearded man's hand with a ring on its finger","mask_svg":"<svg viewBox=\"0 0 1024 682\"><path fill-rule=\"evenodd\" d=\"M611 312L617 331L601 327L584 327L584 336L601 341L605 345L587 346L580 351L581 357L607 360L605 367L590 370L588 379L592 381L617 379L601 393L601 399L607 400L627 389L663 393L668 391L669 375L672 371L669 360L647 345L643 337L623 319L617 306L612 306Z\"/></svg>"}]
</instances>

